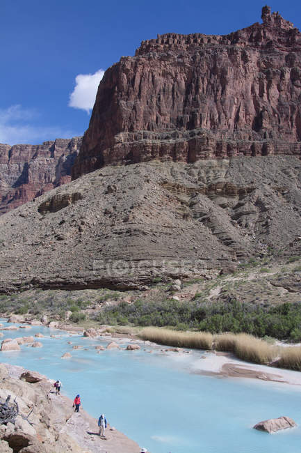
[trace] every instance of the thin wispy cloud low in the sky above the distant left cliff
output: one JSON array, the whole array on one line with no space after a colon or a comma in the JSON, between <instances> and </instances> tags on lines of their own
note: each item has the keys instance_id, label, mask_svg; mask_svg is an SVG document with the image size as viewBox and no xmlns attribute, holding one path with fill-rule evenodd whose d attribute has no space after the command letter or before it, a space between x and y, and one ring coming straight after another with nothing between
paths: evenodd
<instances>
[{"instance_id":1,"label":"thin wispy cloud low in the sky above the distant left cliff","mask_svg":"<svg viewBox=\"0 0 301 453\"><path fill-rule=\"evenodd\" d=\"M81 135L63 128L36 126L33 121L38 116L35 109L24 109L21 105L0 109L0 143L37 144L56 138L64 139Z\"/></svg>"}]
</instances>

